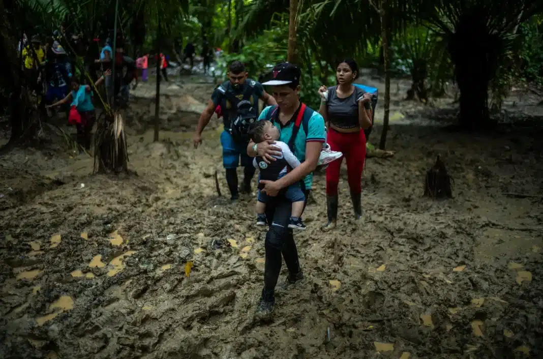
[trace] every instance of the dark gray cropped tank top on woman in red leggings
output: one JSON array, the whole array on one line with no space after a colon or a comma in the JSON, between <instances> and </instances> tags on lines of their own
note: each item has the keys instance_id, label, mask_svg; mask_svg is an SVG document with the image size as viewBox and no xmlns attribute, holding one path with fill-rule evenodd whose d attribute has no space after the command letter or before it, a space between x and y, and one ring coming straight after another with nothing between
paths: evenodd
<instances>
[{"instance_id":1,"label":"dark gray cropped tank top on woman in red leggings","mask_svg":"<svg viewBox=\"0 0 543 359\"><path fill-rule=\"evenodd\" d=\"M337 86L328 87L328 100L326 109L330 123L339 128L356 128L358 123L358 99L364 95L364 90L355 86L351 96L339 98L336 93ZM365 109L370 108L369 103L364 104Z\"/></svg>"}]
</instances>

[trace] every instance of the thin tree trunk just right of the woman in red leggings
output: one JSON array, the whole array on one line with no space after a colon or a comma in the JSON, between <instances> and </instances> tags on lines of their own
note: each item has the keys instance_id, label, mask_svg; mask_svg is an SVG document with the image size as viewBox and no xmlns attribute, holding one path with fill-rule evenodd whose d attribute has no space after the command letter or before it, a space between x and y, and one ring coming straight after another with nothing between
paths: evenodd
<instances>
[{"instance_id":1,"label":"thin tree trunk just right of the woman in red leggings","mask_svg":"<svg viewBox=\"0 0 543 359\"><path fill-rule=\"evenodd\" d=\"M384 117L383 131L381 132L381 141L379 148L384 150L387 143L388 119L390 115L390 31L388 29L388 3L387 0L381 0L379 12L381 15L381 36L383 42L384 57Z\"/></svg>"}]
</instances>

